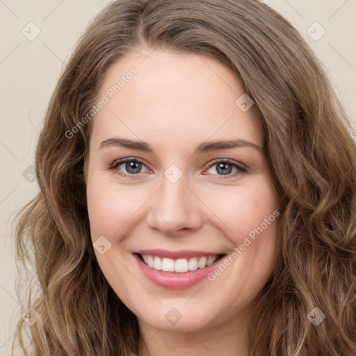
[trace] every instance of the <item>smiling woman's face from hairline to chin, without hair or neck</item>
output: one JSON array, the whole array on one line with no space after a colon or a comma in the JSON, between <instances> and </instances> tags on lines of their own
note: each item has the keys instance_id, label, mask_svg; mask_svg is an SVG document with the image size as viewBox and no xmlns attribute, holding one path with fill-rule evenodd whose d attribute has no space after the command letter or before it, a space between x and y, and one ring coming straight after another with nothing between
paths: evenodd
<instances>
[{"instance_id":1,"label":"smiling woman's face from hairline to chin, without hair or neck","mask_svg":"<svg viewBox=\"0 0 356 356\"><path fill-rule=\"evenodd\" d=\"M156 49L112 65L98 98L87 196L108 283L141 325L245 320L279 212L241 83L213 58Z\"/></svg>"}]
</instances>

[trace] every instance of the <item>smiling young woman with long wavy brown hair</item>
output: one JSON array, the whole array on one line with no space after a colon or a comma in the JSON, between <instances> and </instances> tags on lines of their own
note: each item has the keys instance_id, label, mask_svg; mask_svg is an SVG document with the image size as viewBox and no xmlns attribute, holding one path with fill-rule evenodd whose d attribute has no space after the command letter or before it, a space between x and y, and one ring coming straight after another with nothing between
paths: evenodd
<instances>
[{"instance_id":1,"label":"smiling young woman with long wavy brown hair","mask_svg":"<svg viewBox=\"0 0 356 356\"><path fill-rule=\"evenodd\" d=\"M58 81L17 226L31 355L355 355L350 129L268 6L110 3Z\"/></svg>"}]
</instances>

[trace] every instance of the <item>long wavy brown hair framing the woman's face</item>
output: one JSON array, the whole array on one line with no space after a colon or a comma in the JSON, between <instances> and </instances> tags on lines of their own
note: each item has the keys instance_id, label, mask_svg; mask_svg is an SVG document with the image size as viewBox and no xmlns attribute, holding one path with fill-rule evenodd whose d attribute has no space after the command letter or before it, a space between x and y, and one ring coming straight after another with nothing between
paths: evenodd
<instances>
[{"instance_id":1,"label":"long wavy brown hair framing the woman's face","mask_svg":"<svg viewBox=\"0 0 356 356\"><path fill-rule=\"evenodd\" d=\"M281 216L277 266L250 321L250 355L355 356L350 120L298 31L256 0L113 1L79 40L38 141L40 193L17 215L17 258L25 268L34 262L38 277L17 288L29 290L23 311L33 307L41 316L32 326L19 318L16 339L24 354L138 352L137 318L93 252L83 177L91 125L78 123L95 104L108 67L140 47L216 58L254 100ZM308 318L315 307L325 315L319 325ZM31 346L24 344L25 330Z\"/></svg>"}]
</instances>

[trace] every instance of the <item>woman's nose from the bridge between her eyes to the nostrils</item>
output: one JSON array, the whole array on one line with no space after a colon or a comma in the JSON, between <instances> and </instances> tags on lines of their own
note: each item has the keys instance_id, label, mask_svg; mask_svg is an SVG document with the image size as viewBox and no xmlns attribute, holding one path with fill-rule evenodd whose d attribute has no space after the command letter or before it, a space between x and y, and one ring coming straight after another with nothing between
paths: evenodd
<instances>
[{"instance_id":1,"label":"woman's nose from the bridge between her eyes to the nostrils","mask_svg":"<svg viewBox=\"0 0 356 356\"><path fill-rule=\"evenodd\" d=\"M165 171L161 188L149 209L147 223L150 227L172 234L180 229L196 229L200 225L200 208L188 184L187 175L177 166Z\"/></svg>"}]
</instances>

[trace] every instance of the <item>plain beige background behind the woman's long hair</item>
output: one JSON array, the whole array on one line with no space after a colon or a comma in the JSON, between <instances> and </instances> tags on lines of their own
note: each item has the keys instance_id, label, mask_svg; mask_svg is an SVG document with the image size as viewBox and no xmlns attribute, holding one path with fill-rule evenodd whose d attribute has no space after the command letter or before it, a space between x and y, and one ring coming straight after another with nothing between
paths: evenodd
<instances>
[{"instance_id":1,"label":"plain beige background behind the woman's long hair","mask_svg":"<svg viewBox=\"0 0 356 356\"><path fill-rule=\"evenodd\" d=\"M49 97L79 34L108 2L0 0L0 355L10 355L15 316L25 311L15 293L13 232L8 219L38 191L36 181L31 182L31 165ZM356 128L356 1L264 2L304 35ZM315 40L323 29L325 35ZM35 31L40 34L29 40Z\"/></svg>"}]
</instances>

